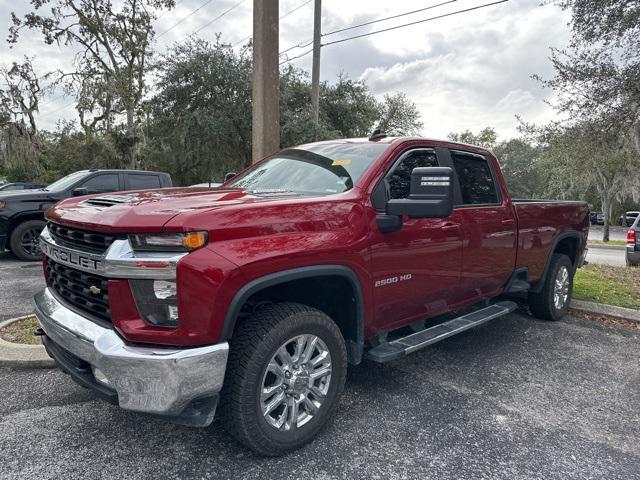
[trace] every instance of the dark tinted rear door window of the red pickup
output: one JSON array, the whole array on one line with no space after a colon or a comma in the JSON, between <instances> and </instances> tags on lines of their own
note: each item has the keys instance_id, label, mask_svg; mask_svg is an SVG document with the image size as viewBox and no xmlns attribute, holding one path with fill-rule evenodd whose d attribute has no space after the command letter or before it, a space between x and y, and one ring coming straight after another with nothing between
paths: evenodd
<instances>
[{"instance_id":1,"label":"dark tinted rear door window of the red pickup","mask_svg":"<svg viewBox=\"0 0 640 480\"><path fill-rule=\"evenodd\" d=\"M460 182L463 205L499 203L486 158L459 152L451 152L451 158Z\"/></svg>"}]
</instances>

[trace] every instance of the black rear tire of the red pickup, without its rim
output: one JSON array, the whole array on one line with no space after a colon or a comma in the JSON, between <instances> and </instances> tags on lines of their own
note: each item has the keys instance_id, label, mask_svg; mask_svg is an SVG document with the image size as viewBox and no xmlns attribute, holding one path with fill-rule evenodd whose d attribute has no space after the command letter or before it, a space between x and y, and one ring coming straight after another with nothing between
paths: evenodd
<instances>
[{"instance_id":1,"label":"black rear tire of the red pickup, without its rim","mask_svg":"<svg viewBox=\"0 0 640 480\"><path fill-rule=\"evenodd\" d=\"M567 272L568 288L564 290L566 299L562 302L562 306L558 308L555 302L555 294L559 293L560 299L563 295L556 292L556 280L560 280L563 275L563 269ZM573 264L566 255L554 253L551 257L549 271L544 279L542 289L538 293L529 293L529 309L531 313L543 320L557 321L564 317L569 310L571 304L571 296L573 294Z\"/></svg>"}]
</instances>

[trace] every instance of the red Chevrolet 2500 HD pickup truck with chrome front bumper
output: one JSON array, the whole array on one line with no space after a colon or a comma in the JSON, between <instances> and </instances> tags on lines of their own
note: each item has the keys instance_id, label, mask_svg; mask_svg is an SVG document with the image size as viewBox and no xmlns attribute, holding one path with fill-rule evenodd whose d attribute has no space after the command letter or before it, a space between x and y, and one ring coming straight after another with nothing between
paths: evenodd
<instances>
[{"instance_id":1,"label":"red Chevrolet 2500 HD pickup truck with chrome front bumper","mask_svg":"<svg viewBox=\"0 0 640 480\"><path fill-rule=\"evenodd\" d=\"M347 364L511 312L567 311L581 202L513 201L482 148L421 138L282 150L214 189L84 196L47 213L38 333L122 408L248 447L311 440Z\"/></svg>"}]
</instances>

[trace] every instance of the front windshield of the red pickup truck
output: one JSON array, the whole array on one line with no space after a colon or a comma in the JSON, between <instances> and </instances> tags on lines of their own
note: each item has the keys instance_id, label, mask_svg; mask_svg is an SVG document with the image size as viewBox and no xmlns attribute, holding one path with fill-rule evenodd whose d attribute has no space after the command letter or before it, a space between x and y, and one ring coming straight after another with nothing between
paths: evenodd
<instances>
[{"instance_id":1,"label":"front windshield of the red pickup truck","mask_svg":"<svg viewBox=\"0 0 640 480\"><path fill-rule=\"evenodd\" d=\"M353 188L387 146L330 143L284 150L225 186L304 195L341 193Z\"/></svg>"}]
</instances>

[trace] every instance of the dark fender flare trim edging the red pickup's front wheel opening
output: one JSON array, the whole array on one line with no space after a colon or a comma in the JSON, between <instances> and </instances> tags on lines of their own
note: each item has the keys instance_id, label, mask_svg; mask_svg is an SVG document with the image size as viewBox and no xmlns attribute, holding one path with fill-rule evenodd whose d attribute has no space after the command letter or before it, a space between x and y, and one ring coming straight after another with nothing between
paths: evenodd
<instances>
[{"instance_id":1,"label":"dark fender flare trim edging the red pickup's front wheel opening","mask_svg":"<svg viewBox=\"0 0 640 480\"><path fill-rule=\"evenodd\" d=\"M362 357L364 348L364 298L362 296L362 287L356 273L349 267L344 265L312 265L309 267L293 268L280 272L270 273L263 277L258 277L246 285L244 285L233 297L222 326L220 341L228 341L235 329L240 309L242 305L253 294L281 283L300 280L303 278L313 278L320 276L338 276L346 279L354 291L356 301L356 340L355 345L349 345L347 341L347 350L350 358ZM347 340L347 339L345 339ZM355 351L353 349L355 348ZM358 362L359 363L359 360Z\"/></svg>"}]
</instances>

